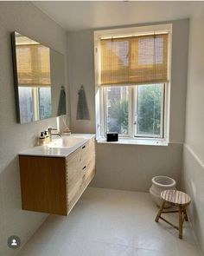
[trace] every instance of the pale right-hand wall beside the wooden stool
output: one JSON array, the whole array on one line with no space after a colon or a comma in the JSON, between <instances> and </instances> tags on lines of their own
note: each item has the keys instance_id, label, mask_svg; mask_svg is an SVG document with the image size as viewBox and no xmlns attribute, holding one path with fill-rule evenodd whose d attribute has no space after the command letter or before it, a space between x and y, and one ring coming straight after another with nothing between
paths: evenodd
<instances>
[{"instance_id":1,"label":"pale right-hand wall beside the wooden stool","mask_svg":"<svg viewBox=\"0 0 204 256\"><path fill-rule=\"evenodd\" d=\"M183 148L182 185L192 197L194 232L204 253L204 11L190 20L186 137Z\"/></svg>"}]
</instances>

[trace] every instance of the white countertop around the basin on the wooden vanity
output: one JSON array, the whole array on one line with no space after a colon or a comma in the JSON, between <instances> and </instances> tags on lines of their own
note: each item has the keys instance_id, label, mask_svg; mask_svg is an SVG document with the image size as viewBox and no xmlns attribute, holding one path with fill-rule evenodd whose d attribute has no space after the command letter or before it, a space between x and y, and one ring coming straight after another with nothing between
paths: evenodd
<instances>
[{"instance_id":1,"label":"white countertop around the basin on the wooden vanity","mask_svg":"<svg viewBox=\"0 0 204 256\"><path fill-rule=\"evenodd\" d=\"M73 151L83 146L87 141L94 138L95 135L88 134L73 134L73 135L62 135L62 139L67 136L70 137L84 137L84 140L76 143L72 148L49 148L48 146L37 146L34 148L29 148L23 150L19 155L29 155L29 156L47 156L47 157L67 157L72 154ZM58 141L61 139L55 139L53 141Z\"/></svg>"}]
</instances>

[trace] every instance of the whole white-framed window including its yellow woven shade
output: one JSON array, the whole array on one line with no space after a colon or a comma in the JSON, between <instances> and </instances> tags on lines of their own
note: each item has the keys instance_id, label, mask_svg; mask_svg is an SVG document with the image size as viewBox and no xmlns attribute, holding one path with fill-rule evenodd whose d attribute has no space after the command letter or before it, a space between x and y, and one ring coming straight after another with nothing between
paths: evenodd
<instances>
[{"instance_id":1,"label":"whole white-framed window including its yellow woven shade","mask_svg":"<svg viewBox=\"0 0 204 256\"><path fill-rule=\"evenodd\" d=\"M95 33L98 135L168 140L171 25L142 29Z\"/></svg>"}]
</instances>

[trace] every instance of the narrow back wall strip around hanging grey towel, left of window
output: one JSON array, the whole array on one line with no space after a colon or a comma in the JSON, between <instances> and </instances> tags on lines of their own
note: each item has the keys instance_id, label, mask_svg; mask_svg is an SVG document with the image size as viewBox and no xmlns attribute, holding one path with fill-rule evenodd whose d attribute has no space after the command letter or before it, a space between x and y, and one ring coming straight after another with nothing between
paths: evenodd
<instances>
[{"instance_id":1,"label":"narrow back wall strip around hanging grey towel, left of window","mask_svg":"<svg viewBox=\"0 0 204 256\"><path fill-rule=\"evenodd\" d=\"M71 129L74 133L95 133L95 79L93 31L68 33L68 63ZM78 91L84 85L90 120L76 120Z\"/></svg>"}]
</instances>

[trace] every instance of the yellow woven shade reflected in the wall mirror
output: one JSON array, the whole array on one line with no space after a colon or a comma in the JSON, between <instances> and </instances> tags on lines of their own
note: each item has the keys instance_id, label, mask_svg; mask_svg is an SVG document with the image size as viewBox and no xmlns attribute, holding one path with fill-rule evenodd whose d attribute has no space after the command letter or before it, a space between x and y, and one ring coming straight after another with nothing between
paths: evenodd
<instances>
[{"instance_id":1,"label":"yellow woven shade reflected in the wall mirror","mask_svg":"<svg viewBox=\"0 0 204 256\"><path fill-rule=\"evenodd\" d=\"M18 85L50 85L49 49L41 44L16 45Z\"/></svg>"}]
</instances>

